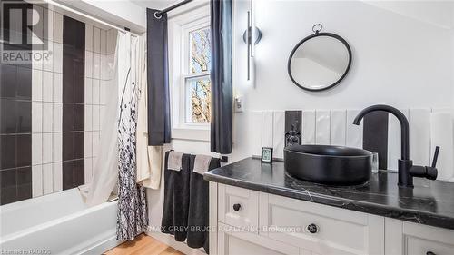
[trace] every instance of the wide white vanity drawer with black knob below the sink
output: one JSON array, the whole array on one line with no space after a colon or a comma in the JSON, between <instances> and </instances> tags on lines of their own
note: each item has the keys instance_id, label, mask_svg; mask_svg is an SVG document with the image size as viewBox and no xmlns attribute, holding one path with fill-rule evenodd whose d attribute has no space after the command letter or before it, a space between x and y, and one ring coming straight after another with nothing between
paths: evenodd
<instances>
[{"instance_id":1,"label":"wide white vanity drawer with black knob below the sink","mask_svg":"<svg viewBox=\"0 0 454 255\"><path fill-rule=\"evenodd\" d=\"M263 193L260 211L271 239L320 254L384 254L383 217Z\"/></svg>"}]
</instances>

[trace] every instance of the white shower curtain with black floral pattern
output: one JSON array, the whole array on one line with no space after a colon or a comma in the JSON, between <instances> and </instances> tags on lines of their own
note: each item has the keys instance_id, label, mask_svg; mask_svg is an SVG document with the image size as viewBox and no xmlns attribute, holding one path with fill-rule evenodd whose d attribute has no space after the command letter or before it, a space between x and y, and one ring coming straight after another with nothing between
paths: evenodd
<instances>
[{"instance_id":1,"label":"white shower curtain with black floral pattern","mask_svg":"<svg viewBox=\"0 0 454 255\"><path fill-rule=\"evenodd\" d=\"M120 116L118 123L118 215L117 240L133 240L148 226L145 188L136 180L137 105L141 96L136 81L138 38L129 33L119 33L118 81ZM139 61L141 61L139 59ZM144 59L143 59L144 61Z\"/></svg>"}]
</instances>

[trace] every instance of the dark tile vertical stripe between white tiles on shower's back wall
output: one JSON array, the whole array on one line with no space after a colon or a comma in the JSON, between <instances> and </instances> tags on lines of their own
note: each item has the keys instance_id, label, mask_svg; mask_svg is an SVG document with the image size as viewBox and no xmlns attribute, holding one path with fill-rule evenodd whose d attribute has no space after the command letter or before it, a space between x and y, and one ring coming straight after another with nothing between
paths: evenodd
<instances>
[{"instance_id":1,"label":"dark tile vertical stripe between white tiles on shower's back wall","mask_svg":"<svg viewBox=\"0 0 454 255\"><path fill-rule=\"evenodd\" d=\"M64 16L63 189L84 184L85 25Z\"/></svg>"}]
</instances>

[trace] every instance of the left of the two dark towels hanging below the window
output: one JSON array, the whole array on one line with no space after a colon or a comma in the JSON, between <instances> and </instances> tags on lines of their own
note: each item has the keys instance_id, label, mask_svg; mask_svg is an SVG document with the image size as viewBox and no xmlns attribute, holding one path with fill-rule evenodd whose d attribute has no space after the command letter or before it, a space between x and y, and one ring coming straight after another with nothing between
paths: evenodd
<instances>
[{"instance_id":1,"label":"left of the two dark towels hanging below the window","mask_svg":"<svg viewBox=\"0 0 454 255\"><path fill-rule=\"evenodd\" d=\"M168 167L169 154L165 152L164 162L164 204L161 231L172 234L177 241L186 240L189 212L189 181L191 178L190 155L182 155L182 170L173 171Z\"/></svg>"}]
</instances>

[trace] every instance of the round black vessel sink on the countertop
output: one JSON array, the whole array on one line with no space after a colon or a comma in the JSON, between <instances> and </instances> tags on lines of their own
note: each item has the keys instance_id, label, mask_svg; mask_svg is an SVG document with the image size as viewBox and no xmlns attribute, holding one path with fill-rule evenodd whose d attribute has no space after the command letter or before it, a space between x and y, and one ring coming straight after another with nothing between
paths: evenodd
<instances>
[{"instance_id":1,"label":"round black vessel sink on the countertop","mask_svg":"<svg viewBox=\"0 0 454 255\"><path fill-rule=\"evenodd\" d=\"M292 177L328 185L357 185L369 180L372 153L331 145L292 145L284 149Z\"/></svg>"}]
</instances>

